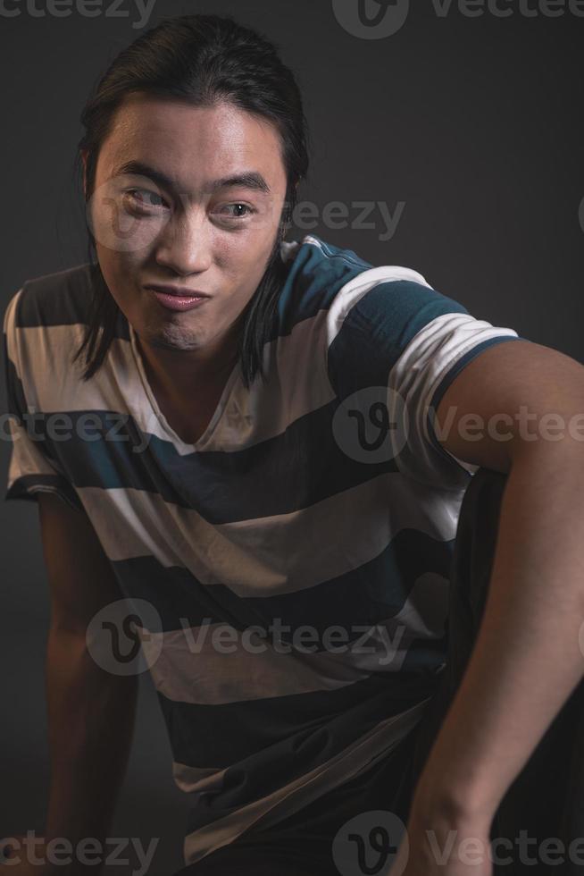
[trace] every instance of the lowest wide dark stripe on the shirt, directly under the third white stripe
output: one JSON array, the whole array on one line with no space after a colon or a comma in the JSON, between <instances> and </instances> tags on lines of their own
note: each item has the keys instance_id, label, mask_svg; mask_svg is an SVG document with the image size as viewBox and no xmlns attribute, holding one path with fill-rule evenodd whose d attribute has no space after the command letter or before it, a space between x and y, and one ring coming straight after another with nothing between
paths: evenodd
<instances>
[{"instance_id":1,"label":"lowest wide dark stripe on the shirt, directly under the third white stripe","mask_svg":"<svg viewBox=\"0 0 584 876\"><path fill-rule=\"evenodd\" d=\"M438 668L438 662L437 666ZM170 729L175 761L194 767L226 769L237 764L246 781L257 782L247 794L245 783L238 804L244 805L279 787L280 778L292 780L342 751L380 720L423 699L432 688L436 668L425 672L375 673L362 681L334 690L316 690L238 703L175 703L157 692L163 719ZM235 730L235 732L234 732ZM321 745L309 744L316 732ZM305 751L300 742L303 742ZM316 748L319 751L316 751ZM293 766L287 753L296 751ZM303 756L308 755L308 756ZM246 772L246 762L254 769ZM270 770L260 769L270 764ZM285 769L280 776L279 764ZM262 790L264 789L264 791ZM234 803L235 804L235 803ZM217 816L213 816L213 819Z\"/></svg>"}]
</instances>

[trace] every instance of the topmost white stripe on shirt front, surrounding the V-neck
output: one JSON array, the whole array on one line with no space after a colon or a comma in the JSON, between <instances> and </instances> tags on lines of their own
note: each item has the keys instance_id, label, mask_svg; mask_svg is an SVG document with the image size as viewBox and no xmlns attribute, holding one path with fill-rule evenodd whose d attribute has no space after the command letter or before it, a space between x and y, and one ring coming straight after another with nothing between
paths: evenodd
<instances>
[{"instance_id":1,"label":"topmost white stripe on shirt front, surrounding the V-neck","mask_svg":"<svg viewBox=\"0 0 584 876\"><path fill-rule=\"evenodd\" d=\"M235 374L231 387L227 387L228 405L218 427L206 441L194 445L181 441L168 428L155 397L153 408L152 389L139 351L136 357L134 355L132 341L114 338L104 366L88 382L81 379L79 359L74 365L71 363L83 339L85 327L82 324L16 328L13 342L9 343L9 356L21 379L29 409L63 413L107 410L129 414L143 434L172 442L183 456L202 450L241 450L282 434L296 419L335 398L321 341L324 319L325 312L321 311L297 323L289 335L265 345L267 380L259 395L254 386L246 390ZM133 336L130 327L130 338ZM272 357L276 358L273 366ZM112 428L113 425L114 421Z\"/></svg>"}]
</instances>

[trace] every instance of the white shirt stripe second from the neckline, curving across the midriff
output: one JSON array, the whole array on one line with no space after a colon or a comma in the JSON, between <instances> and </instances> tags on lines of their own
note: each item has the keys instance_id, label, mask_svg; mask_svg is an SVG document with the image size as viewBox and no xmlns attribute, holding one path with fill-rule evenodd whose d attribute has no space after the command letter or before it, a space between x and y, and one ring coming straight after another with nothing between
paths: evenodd
<instances>
[{"instance_id":1,"label":"white shirt stripe second from the neckline, curving across the midriff","mask_svg":"<svg viewBox=\"0 0 584 876\"><path fill-rule=\"evenodd\" d=\"M450 540L463 498L389 472L288 514L213 526L158 493L77 492L110 560L152 554L164 567L188 569L202 584L226 585L238 596L295 593L344 575L379 556L405 528Z\"/></svg>"}]
</instances>

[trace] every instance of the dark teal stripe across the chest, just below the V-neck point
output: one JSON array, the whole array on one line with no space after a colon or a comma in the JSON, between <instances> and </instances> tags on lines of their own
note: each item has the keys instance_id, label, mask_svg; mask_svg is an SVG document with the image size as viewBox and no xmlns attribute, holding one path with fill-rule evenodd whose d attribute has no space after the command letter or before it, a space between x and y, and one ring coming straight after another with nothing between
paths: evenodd
<instances>
[{"instance_id":1,"label":"dark teal stripe across the chest, just below the V-neck point","mask_svg":"<svg viewBox=\"0 0 584 876\"><path fill-rule=\"evenodd\" d=\"M11 412L19 417L23 393L14 374L12 386ZM146 436L144 447L133 418L115 411L38 411L25 422L31 440L38 436L39 451L77 488L146 490L221 524L286 514L397 470L395 459L370 463L346 455L332 428L337 407L333 400L284 433L241 451L186 456L153 435ZM70 418L71 429L63 430L70 437L58 441L47 426L50 417L63 415Z\"/></svg>"}]
</instances>

